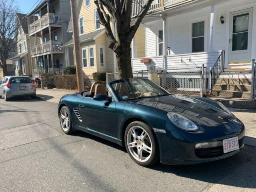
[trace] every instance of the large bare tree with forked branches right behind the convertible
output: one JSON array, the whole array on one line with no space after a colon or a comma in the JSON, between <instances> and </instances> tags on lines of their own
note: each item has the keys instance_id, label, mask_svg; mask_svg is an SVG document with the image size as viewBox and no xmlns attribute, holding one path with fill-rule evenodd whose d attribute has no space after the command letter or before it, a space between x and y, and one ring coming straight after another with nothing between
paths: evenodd
<instances>
[{"instance_id":1,"label":"large bare tree with forked branches right behind the convertible","mask_svg":"<svg viewBox=\"0 0 256 192\"><path fill-rule=\"evenodd\" d=\"M110 39L109 48L116 54L121 78L132 77L130 44L152 1L146 0L145 4L142 4L142 0L94 0L100 23L106 28L106 34ZM140 4L141 10L131 24L132 3ZM114 18L116 37L111 29L110 15Z\"/></svg>"}]
</instances>

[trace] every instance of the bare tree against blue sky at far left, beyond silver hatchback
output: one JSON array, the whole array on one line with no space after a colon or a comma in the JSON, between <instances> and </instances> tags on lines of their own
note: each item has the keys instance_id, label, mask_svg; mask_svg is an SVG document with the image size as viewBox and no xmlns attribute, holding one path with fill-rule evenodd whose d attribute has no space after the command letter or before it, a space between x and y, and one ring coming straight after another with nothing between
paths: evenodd
<instances>
[{"instance_id":1,"label":"bare tree against blue sky at far left, beyond silver hatchback","mask_svg":"<svg viewBox=\"0 0 256 192\"><path fill-rule=\"evenodd\" d=\"M18 6L14 0L0 0L0 68L4 76L8 74L6 60L16 50L16 12Z\"/></svg>"}]
</instances>

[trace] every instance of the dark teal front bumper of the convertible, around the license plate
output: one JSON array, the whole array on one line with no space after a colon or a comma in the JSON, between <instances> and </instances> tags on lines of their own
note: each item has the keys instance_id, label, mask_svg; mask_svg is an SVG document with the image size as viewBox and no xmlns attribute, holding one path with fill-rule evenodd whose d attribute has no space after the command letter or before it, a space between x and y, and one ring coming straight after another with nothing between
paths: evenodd
<instances>
[{"instance_id":1,"label":"dark teal front bumper of the convertible, around the license plate","mask_svg":"<svg viewBox=\"0 0 256 192\"><path fill-rule=\"evenodd\" d=\"M201 128L202 132L185 132L183 130L169 131L166 134L156 133L160 148L160 161L162 164L197 164L230 157L240 152L244 147L244 126L229 122L227 124ZM206 155L196 151L196 143L222 141L223 139L238 137L239 150L223 153L223 149L209 148Z\"/></svg>"}]
</instances>

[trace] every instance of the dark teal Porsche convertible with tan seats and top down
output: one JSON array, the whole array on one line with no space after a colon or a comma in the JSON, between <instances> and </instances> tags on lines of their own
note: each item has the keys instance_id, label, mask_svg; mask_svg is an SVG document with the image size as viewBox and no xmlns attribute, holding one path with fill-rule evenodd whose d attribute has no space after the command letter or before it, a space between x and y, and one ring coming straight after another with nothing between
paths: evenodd
<instances>
[{"instance_id":1,"label":"dark teal Porsche convertible with tan seats and top down","mask_svg":"<svg viewBox=\"0 0 256 192\"><path fill-rule=\"evenodd\" d=\"M223 104L173 95L147 79L122 79L65 95L58 106L64 133L82 130L125 146L137 164L196 164L243 147L244 124Z\"/></svg>"}]
</instances>

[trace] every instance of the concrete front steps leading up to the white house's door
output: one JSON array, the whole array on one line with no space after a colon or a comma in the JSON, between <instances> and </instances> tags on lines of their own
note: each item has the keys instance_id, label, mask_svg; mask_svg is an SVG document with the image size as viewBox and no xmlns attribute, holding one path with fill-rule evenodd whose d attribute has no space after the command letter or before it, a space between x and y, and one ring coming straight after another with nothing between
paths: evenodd
<instances>
[{"instance_id":1,"label":"concrete front steps leading up to the white house's door","mask_svg":"<svg viewBox=\"0 0 256 192\"><path fill-rule=\"evenodd\" d=\"M222 98L250 98L250 78L218 78L212 95Z\"/></svg>"}]
</instances>

